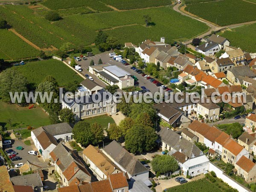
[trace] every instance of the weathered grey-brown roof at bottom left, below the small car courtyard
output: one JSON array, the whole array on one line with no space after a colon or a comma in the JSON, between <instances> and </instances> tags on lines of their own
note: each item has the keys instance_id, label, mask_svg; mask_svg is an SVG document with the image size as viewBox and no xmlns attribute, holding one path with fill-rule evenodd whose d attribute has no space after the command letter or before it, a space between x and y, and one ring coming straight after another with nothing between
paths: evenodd
<instances>
[{"instance_id":1,"label":"weathered grey-brown roof at bottom left, below the small car courtyard","mask_svg":"<svg viewBox=\"0 0 256 192\"><path fill-rule=\"evenodd\" d=\"M34 187L42 187L43 183L41 181L40 174L34 173L29 175L22 175L18 177L10 178L13 185L26 185L26 186L34 186Z\"/></svg>"}]
</instances>

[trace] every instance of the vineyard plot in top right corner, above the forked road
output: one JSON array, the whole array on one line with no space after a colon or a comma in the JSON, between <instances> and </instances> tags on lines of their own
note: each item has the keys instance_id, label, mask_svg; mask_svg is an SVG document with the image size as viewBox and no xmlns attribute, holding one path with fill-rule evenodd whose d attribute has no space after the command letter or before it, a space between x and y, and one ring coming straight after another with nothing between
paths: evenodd
<instances>
[{"instance_id":1,"label":"vineyard plot in top right corner, above the forked road","mask_svg":"<svg viewBox=\"0 0 256 192\"><path fill-rule=\"evenodd\" d=\"M212 23L217 20L219 26L256 20L256 4L242 0L190 4L186 6L185 10Z\"/></svg>"}]
</instances>

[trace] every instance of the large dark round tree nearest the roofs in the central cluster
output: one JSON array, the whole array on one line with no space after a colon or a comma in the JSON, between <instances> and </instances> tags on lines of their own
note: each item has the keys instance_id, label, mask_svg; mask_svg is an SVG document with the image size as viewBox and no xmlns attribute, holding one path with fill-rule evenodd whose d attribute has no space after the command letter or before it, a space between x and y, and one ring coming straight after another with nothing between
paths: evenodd
<instances>
[{"instance_id":1,"label":"large dark round tree nearest the roofs in the central cluster","mask_svg":"<svg viewBox=\"0 0 256 192\"><path fill-rule=\"evenodd\" d=\"M125 135L125 147L131 153L149 151L155 146L157 134L151 127L134 125L128 129Z\"/></svg>"}]
</instances>

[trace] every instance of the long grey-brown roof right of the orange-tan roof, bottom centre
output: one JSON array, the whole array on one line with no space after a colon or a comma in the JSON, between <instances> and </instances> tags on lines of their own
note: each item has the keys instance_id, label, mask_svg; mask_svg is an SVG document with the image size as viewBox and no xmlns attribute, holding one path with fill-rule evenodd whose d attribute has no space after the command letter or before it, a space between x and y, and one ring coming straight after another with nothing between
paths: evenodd
<instances>
[{"instance_id":1,"label":"long grey-brown roof right of the orange-tan roof, bottom centre","mask_svg":"<svg viewBox=\"0 0 256 192\"><path fill-rule=\"evenodd\" d=\"M145 168L133 154L126 151L125 148L119 145L115 140L105 146L103 151L110 155L113 160L122 166L131 176L148 172L148 169Z\"/></svg>"}]
</instances>

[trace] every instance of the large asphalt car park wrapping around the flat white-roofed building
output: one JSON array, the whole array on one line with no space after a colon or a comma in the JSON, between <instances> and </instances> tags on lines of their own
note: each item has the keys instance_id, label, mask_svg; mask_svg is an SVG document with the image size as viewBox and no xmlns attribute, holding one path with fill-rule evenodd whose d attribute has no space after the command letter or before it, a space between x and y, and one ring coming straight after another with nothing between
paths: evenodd
<instances>
[{"instance_id":1,"label":"large asphalt car park wrapping around the flat white-roofed building","mask_svg":"<svg viewBox=\"0 0 256 192\"><path fill-rule=\"evenodd\" d=\"M128 73L131 73L131 75L136 76L138 78L138 82L140 83L139 84L140 87L145 86L146 88L148 88L151 91L151 93L155 93L155 92L159 91L159 87L157 87L155 84L148 81L146 78L144 78L140 74L136 73L134 70L131 70L131 65L125 66L121 62L115 61L113 58L110 58L108 56L108 52L104 52L99 55L94 55L92 57L88 57L88 59L85 61L84 60L76 61L76 63L82 68L83 71L81 73L83 75L88 74L89 76L93 77L93 79L96 83L105 87L106 86L105 83L103 83L101 80L96 78L95 75L93 75L87 71L87 69L90 66L90 61L93 59L94 63L98 64L98 61L100 58L102 59L102 63L109 63L111 65L116 65L116 66L122 68L123 70L127 71Z\"/></svg>"}]
</instances>

